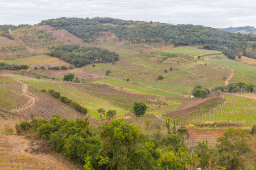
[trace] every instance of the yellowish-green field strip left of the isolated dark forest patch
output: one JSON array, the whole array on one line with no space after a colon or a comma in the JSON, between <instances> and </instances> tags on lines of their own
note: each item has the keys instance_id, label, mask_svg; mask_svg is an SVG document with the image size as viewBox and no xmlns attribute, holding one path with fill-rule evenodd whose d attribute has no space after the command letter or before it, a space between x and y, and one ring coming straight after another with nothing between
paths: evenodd
<instances>
[{"instance_id":1,"label":"yellowish-green field strip left of the isolated dark forest patch","mask_svg":"<svg viewBox=\"0 0 256 170\"><path fill-rule=\"evenodd\" d=\"M41 55L27 58L19 58L14 60L6 60L6 63L9 64L18 64L18 65L36 65L41 63L49 63L49 62L61 62L62 60L59 58Z\"/></svg>"}]
</instances>

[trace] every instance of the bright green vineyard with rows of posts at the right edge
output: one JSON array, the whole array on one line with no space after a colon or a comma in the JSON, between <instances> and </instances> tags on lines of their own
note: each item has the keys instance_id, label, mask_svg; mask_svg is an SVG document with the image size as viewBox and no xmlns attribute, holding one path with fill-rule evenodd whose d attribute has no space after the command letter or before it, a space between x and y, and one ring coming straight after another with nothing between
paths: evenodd
<instances>
[{"instance_id":1,"label":"bright green vineyard with rows of posts at the right edge","mask_svg":"<svg viewBox=\"0 0 256 170\"><path fill-rule=\"evenodd\" d=\"M256 124L256 100L241 96L226 96L228 103L212 112L205 112L200 121L226 121L252 126Z\"/></svg>"}]
</instances>

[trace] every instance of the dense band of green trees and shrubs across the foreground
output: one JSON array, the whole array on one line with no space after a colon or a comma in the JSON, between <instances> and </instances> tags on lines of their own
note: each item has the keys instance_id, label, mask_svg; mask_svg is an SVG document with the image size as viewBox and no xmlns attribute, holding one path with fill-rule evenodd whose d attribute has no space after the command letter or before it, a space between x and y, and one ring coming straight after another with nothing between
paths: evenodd
<instances>
[{"instance_id":1,"label":"dense band of green trees and shrubs across the foreground","mask_svg":"<svg viewBox=\"0 0 256 170\"><path fill-rule=\"evenodd\" d=\"M188 148L187 129L176 129L170 118L166 119L168 134L157 127L148 120L144 133L139 125L117 119L93 128L88 118L75 121L53 116L49 121L23 121L16 125L16 131L36 134L84 169L240 169L241 156L251 149L250 135L239 128L226 130L217 139L217 148L209 147L207 141Z\"/></svg>"}]
</instances>

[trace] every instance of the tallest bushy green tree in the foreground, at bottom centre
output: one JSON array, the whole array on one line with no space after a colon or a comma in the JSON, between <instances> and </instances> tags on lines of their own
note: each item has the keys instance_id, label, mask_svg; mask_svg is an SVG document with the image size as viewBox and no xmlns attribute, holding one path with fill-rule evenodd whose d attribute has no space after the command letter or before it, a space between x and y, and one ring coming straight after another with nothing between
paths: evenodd
<instances>
[{"instance_id":1,"label":"tallest bushy green tree in the foreground, at bottom centre","mask_svg":"<svg viewBox=\"0 0 256 170\"><path fill-rule=\"evenodd\" d=\"M123 119L106 121L100 128L101 149L98 164L102 169L152 169L154 143L146 142L139 125Z\"/></svg>"}]
</instances>

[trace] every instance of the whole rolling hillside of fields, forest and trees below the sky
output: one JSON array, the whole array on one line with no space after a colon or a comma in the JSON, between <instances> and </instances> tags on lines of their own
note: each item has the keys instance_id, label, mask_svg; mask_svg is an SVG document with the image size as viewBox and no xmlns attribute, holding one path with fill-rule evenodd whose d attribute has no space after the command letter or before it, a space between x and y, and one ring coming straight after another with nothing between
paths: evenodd
<instances>
[{"instance_id":1,"label":"whole rolling hillside of fields, forest and trees below the sky","mask_svg":"<svg viewBox=\"0 0 256 170\"><path fill-rule=\"evenodd\" d=\"M137 156L134 169L220 168L234 154L216 146L229 128L255 145L254 35L111 18L0 31L0 169L118 169L109 162L126 152ZM134 115L136 102L146 114ZM255 153L235 157L251 169Z\"/></svg>"}]
</instances>

